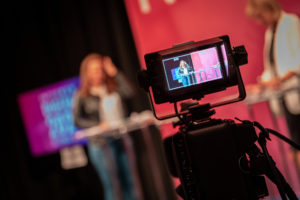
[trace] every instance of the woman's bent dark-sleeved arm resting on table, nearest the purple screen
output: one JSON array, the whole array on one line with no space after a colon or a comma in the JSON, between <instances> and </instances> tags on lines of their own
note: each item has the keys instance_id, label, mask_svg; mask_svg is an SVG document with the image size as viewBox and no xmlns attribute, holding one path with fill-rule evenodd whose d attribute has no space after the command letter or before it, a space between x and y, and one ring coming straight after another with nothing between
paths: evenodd
<instances>
[{"instance_id":1,"label":"woman's bent dark-sleeved arm resting on table, nearest the purple screen","mask_svg":"<svg viewBox=\"0 0 300 200\"><path fill-rule=\"evenodd\" d=\"M97 120L84 118L82 106L82 99L80 98L79 92L76 92L73 96L73 117L75 126L79 128L90 128L98 125Z\"/></svg>"}]
</instances>

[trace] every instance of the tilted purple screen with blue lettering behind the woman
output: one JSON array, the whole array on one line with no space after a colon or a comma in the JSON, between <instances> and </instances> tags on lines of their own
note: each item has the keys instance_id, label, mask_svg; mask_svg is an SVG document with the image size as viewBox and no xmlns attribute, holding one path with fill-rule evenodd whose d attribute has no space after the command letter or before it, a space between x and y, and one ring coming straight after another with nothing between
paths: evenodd
<instances>
[{"instance_id":1,"label":"tilted purple screen with blue lettering behind the woman","mask_svg":"<svg viewBox=\"0 0 300 200\"><path fill-rule=\"evenodd\" d=\"M34 156L79 143L73 137L77 128L72 114L72 97L78 83L78 78L72 78L19 95L21 115Z\"/></svg>"}]
</instances>

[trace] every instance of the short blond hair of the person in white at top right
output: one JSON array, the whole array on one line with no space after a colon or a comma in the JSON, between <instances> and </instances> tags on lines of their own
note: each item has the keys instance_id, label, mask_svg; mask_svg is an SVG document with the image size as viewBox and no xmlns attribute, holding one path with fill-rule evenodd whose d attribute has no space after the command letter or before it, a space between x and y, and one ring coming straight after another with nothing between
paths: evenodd
<instances>
[{"instance_id":1,"label":"short blond hair of the person in white at top right","mask_svg":"<svg viewBox=\"0 0 300 200\"><path fill-rule=\"evenodd\" d=\"M279 16L281 6L277 0L248 0L245 9L247 16L254 18L264 11L271 11Z\"/></svg>"}]
</instances>

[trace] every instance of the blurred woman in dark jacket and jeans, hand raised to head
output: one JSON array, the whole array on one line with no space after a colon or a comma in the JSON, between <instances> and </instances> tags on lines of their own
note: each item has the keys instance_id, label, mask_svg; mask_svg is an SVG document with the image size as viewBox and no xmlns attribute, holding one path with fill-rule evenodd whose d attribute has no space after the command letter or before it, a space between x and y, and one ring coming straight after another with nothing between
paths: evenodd
<instances>
[{"instance_id":1,"label":"blurred woman in dark jacket and jeans, hand raised to head","mask_svg":"<svg viewBox=\"0 0 300 200\"><path fill-rule=\"evenodd\" d=\"M125 117L122 100L133 94L133 88L110 57L97 53L87 55L80 66L80 88L74 95L75 125L79 128L100 126L104 130L117 127ZM103 151L92 139L88 153L104 187L104 199L115 199Z\"/></svg>"}]
</instances>

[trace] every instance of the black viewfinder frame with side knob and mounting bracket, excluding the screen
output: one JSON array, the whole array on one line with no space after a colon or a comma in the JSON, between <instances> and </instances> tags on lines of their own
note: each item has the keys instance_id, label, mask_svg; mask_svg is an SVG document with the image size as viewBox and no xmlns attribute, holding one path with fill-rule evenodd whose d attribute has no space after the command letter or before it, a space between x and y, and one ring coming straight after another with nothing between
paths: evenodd
<instances>
[{"instance_id":1,"label":"black viewfinder frame with side knob and mounting bracket, excluding the screen","mask_svg":"<svg viewBox=\"0 0 300 200\"><path fill-rule=\"evenodd\" d=\"M186 93L186 87L183 87L183 91L184 91L183 95L180 95L178 92L170 95L166 90L167 86L165 84L165 75L164 75L164 66L162 63L162 56L164 55L172 56L172 54L174 56L176 55L176 52L180 53L185 50L191 50L195 47L201 47L201 46L205 48L205 46L207 47L207 45L209 44L216 44L218 42L222 43L220 44L220 48L224 44L225 47L224 53L226 54L227 61L228 61L228 65L225 67L227 68L228 71L226 73L226 76L223 76L224 82L221 83L221 85L212 84L213 87L211 88L204 88L204 90L196 90L192 92L189 91L189 93ZM219 53L219 55L221 55L222 53L223 52ZM177 104L178 101L187 100L190 98L194 98L195 100L200 100L202 97L204 97L207 94L223 91L226 90L226 88L233 87L233 86L237 86L238 96L223 101L210 102L209 104L211 108L239 102L245 99L246 97L246 90L241 77L239 66L248 63L248 54L244 46L239 46L232 49L228 35L223 35L223 36L219 36L219 37L215 37L215 38L211 38L199 42L187 42L184 44L176 45L169 49L145 54L144 58L145 58L147 70L144 70L143 74L141 74L142 76L138 76L138 77L139 77L140 85L146 91L149 92L151 108L153 110L154 116L158 120L169 119L175 116L186 114L186 111L180 111L180 112L175 112L173 114L158 116L156 113L156 105L159 104L168 103L168 102ZM225 63L223 59L223 75L224 75L224 64ZM213 83L216 83L216 81L213 81ZM204 83L201 85L203 87ZM201 93L201 94L197 96L195 95L197 93ZM198 99L195 98L195 96L197 96Z\"/></svg>"}]
</instances>

